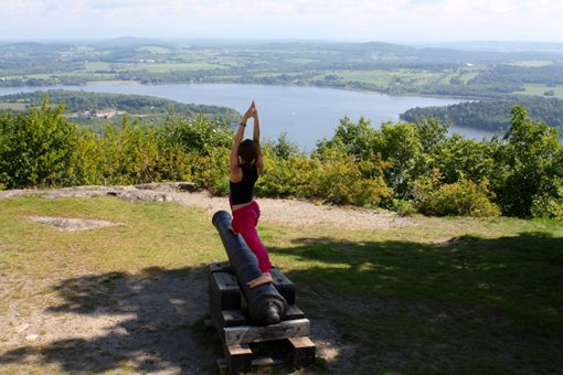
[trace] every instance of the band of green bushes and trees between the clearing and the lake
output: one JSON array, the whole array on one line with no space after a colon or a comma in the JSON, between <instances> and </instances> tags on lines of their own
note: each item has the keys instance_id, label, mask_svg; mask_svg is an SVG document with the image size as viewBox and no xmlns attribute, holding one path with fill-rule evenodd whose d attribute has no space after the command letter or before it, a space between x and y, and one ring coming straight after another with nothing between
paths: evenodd
<instances>
[{"instance_id":1,"label":"band of green bushes and trees between the clearing and the lake","mask_svg":"<svg viewBox=\"0 0 563 375\"><path fill-rule=\"evenodd\" d=\"M401 214L562 217L563 146L555 129L514 107L504 139L476 141L447 130L437 120L375 130L365 119L343 118L310 157L282 135L264 146L256 194ZM0 115L0 189L191 180L225 195L232 141L219 121L176 115L163 127L125 116L97 136L45 100L25 114Z\"/></svg>"}]
</instances>

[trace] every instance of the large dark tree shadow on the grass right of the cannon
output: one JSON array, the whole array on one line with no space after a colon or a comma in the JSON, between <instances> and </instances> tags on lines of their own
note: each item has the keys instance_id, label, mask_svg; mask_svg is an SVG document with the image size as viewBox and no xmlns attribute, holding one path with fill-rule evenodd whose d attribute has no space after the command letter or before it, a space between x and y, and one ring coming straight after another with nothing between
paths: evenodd
<instances>
[{"instance_id":1,"label":"large dark tree shadow on the grass right of the cannon","mask_svg":"<svg viewBox=\"0 0 563 375\"><path fill-rule=\"evenodd\" d=\"M342 346L334 372L553 372L563 368L563 238L461 236L439 243L298 238L297 303ZM304 265L307 266L304 267ZM348 366L348 367L347 367Z\"/></svg>"}]
</instances>

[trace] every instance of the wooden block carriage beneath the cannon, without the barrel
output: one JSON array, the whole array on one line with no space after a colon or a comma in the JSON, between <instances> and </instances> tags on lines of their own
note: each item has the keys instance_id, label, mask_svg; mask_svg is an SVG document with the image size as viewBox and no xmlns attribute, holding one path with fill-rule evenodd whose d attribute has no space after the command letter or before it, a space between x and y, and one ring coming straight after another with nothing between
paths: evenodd
<instances>
[{"instance_id":1,"label":"wooden block carriage beneath the cannon, without the barrel","mask_svg":"<svg viewBox=\"0 0 563 375\"><path fill-rule=\"evenodd\" d=\"M315 362L316 346L308 338L310 322L295 304L294 283L273 269L274 286L284 296L287 310L282 321L270 325L253 324L229 262L209 267L210 312L212 323L223 342L224 358L217 360L221 374L264 371L284 363L294 368Z\"/></svg>"}]
</instances>

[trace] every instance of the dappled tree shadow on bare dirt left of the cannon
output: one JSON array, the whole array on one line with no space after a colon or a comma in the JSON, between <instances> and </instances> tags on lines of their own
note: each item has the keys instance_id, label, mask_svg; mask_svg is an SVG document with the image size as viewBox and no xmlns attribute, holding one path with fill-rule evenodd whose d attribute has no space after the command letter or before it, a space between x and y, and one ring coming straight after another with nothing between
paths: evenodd
<instances>
[{"instance_id":1,"label":"dappled tree shadow on bare dirt left of the cannon","mask_svg":"<svg viewBox=\"0 0 563 375\"><path fill-rule=\"evenodd\" d=\"M209 310L203 267L83 276L63 280L54 289L64 302L47 311L79 315L77 321L85 326L94 324L93 336L84 338L88 330L70 323L71 331L79 331L73 339L11 350L0 356L0 364L40 358L71 373L212 371L214 353L193 329ZM93 322L97 318L102 325L99 320Z\"/></svg>"}]
</instances>

